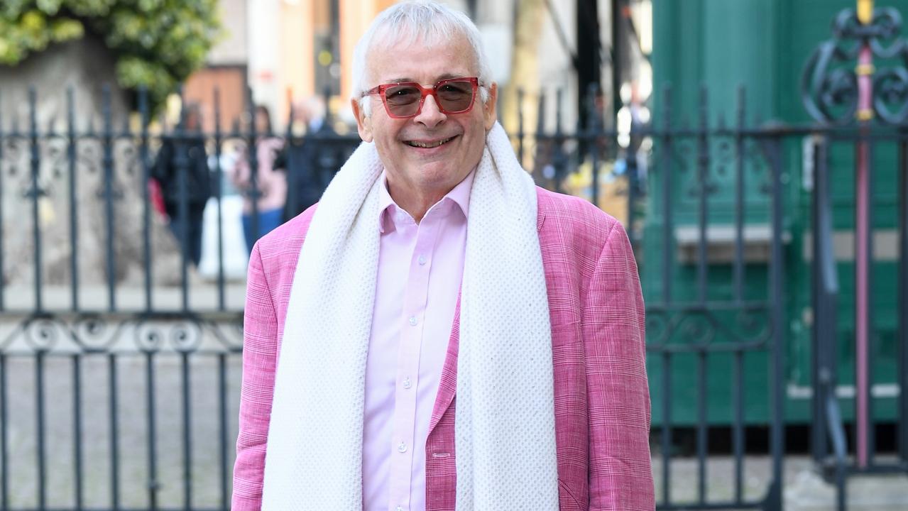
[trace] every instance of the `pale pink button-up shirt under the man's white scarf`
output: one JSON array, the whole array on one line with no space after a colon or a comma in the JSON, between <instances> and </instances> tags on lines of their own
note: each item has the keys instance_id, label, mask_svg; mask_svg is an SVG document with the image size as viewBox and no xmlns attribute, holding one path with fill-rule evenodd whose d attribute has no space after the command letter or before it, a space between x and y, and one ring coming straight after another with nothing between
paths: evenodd
<instances>
[{"instance_id":1,"label":"pale pink button-up shirt under the man's white scarf","mask_svg":"<svg viewBox=\"0 0 908 511\"><path fill-rule=\"evenodd\" d=\"M417 224L380 190L362 437L364 511L426 508L426 439L463 275L474 172Z\"/></svg>"}]
</instances>

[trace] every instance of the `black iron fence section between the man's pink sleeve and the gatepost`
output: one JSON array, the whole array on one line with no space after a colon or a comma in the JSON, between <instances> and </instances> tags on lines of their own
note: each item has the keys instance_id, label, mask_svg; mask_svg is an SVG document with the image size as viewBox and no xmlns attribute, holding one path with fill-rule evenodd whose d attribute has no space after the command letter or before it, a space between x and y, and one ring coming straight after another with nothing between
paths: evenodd
<instances>
[{"instance_id":1,"label":"black iron fence section between the man's pink sleeve and the gatepost","mask_svg":"<svg viewBox=\"0 0 908 511\"><path fill-rule=\"evenodd\" d=\"M657 507L781 509L785 134L746 124L743 91L733 127L712 122L706 104L704 90L696 127L679 128L666 91L662 118L637 134L653 141L643 228L637 233L633 214L628 221L646 299ZM754 371L759 389L747 376ZM745 486L755 424L769 455L756 492ZM711 463L716 426L730 427L724 464ZM683 482L673 476L676 430L693 431L694 467Z\"/></svg>"}]
</instances>

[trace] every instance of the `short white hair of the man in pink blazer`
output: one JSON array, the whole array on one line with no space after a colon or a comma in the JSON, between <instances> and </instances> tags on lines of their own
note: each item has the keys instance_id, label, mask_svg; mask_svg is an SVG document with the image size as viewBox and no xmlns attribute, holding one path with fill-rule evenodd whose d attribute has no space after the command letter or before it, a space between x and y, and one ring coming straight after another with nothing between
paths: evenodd
<instances>
[{"instance_id":1,"label":"short white hair of the man in pink blazer","mask_svg":"<svg viewBox=\"0 0 908 511\"><path fill-rule=\"evenodd\" d=\"M370 98L362 94L368 90L366 80L370 78L366 73L367 57L376 44L414 44L419 41L435 45L447 42L458 34L466 37L473 49L479 70L479 98L482 103L487 103L492 74L479 29L467 15L447 5L430 0L411 0L393 5L376 16L353 50L353 99L360 103L362 112L366 116L371 113Z\"/></svg>"}]
</instances>

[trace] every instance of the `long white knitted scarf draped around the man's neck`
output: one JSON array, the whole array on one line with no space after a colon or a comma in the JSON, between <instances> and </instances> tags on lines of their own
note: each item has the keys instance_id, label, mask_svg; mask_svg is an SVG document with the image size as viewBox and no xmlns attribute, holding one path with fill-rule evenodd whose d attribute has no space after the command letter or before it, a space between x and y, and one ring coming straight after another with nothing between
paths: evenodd
<instances>
[{"instance_id":1,"label":"long white knitted scarf draped around the man's neck","mask_svg":"<svg viewBox=\"0 0 908 511\"><path fill-rule=\"evenodd\" d=\"M382 170L362 143L321 197L291 289L262 509L362 508L366 355ZM501 126L470 192L460 298L457 509L558 509L551 332L537 197Z\"/></svg>"}]
</instances>

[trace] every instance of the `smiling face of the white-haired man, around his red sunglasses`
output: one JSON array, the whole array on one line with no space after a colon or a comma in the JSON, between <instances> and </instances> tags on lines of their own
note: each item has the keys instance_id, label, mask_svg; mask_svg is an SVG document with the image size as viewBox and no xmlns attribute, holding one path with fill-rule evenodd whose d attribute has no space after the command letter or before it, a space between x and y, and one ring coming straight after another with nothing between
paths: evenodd
<instances>
[{"instance_id":1,"label":"smiling face of the white-haired man, around his red sunglasses","mask_svg":"<svg viewBox=\"0 0 908 511\"><path fill-rule=\"evenodd\" d=\"M445 78L479 74L473 50L462 35L432 47L421 41L390 48L379 44L367 59L367 89L395 82L430 87ZM486 133L495 123L496 92L492 84L489 102L483 104L477 90L473 109L454 114L439 112L435 98L428 96L419 114L409 119L391 118L379 94L370 98L369 117L354 100L360 136L366 142L375 142L392 195L416 193L439 199L463 181L482 158ZM429 147L415 147L413 142Z\"/></svg>"}]
</instances>

